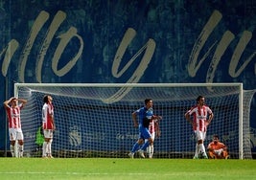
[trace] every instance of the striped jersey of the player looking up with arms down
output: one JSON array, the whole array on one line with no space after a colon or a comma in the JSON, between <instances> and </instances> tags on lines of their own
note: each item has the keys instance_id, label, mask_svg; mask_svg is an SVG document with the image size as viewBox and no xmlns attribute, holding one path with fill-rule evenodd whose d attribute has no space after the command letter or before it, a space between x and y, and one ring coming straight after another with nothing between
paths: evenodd
<instances>
[{"instance_id":1,"label":"striped jersey of the player looking up with arms down","mask_svg":"<svg viewBox=\"0 0 256 180\"><path fill-rule=\"evenodd\" d=\"M43 129L54 129L54 106L52 103L44 103L42 108Z\"/></svg>"}]
</instances>

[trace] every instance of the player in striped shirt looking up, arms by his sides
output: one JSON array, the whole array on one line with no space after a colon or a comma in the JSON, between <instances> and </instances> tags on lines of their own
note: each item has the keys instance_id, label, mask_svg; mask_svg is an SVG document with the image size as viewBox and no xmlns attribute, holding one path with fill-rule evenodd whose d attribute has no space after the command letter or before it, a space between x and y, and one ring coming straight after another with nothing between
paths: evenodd
<instances>
[{"instance_id":1,"label":"player in striped shirt looking up, arms by his sides","mask_svg":"<svg viewBox=\"0 0 256 180\"><path fill-rule=\"evenodd\" d=\"M53 98L49 95L43 97L43 107L42 107L42 128L44 134L44 142L42 147L42 157L43 158L53 158L52 156L52 142L55 130L54 121L54 105L52 103Z\"/></svg>"}]
</instances>

